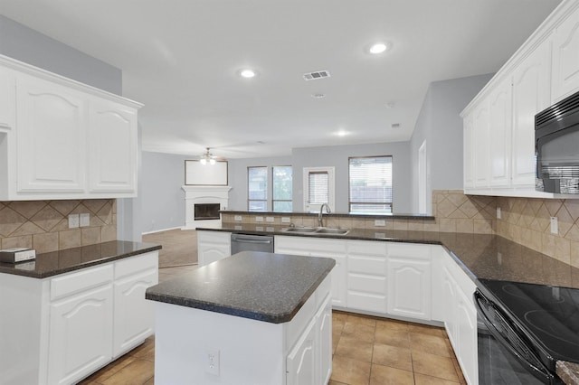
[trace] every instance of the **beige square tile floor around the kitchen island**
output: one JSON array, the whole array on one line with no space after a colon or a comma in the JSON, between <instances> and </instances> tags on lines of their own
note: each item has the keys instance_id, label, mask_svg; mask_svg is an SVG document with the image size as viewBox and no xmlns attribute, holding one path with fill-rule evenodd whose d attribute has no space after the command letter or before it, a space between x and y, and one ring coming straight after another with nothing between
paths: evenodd
<instances>
[{"instance_id":1,"label":"beige square tile floor around the kitchen island","mask_svg":"<svg viewBox=\"0 0 579 385\"><path fill-rule=\"evenodd\" d=\"M159 281L195 268L159 268ZM441 328L345 312L334 312L332 322L334 357L329 385L466 383ZM149 337L81 384L152 385L154 377L155 339Z\"/></svg>"}]
</instances>

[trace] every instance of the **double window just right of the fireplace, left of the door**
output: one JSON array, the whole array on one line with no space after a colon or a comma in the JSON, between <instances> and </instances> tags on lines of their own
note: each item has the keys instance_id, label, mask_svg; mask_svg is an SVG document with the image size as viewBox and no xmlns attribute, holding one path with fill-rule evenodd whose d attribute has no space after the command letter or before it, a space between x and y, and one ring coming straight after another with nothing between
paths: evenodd
<instances>
[{"instance_id":1,"label":"double window just right of the fireplace, left of the door","mask_svg":"<svg viewBox=\"0 0 579 385\"><path fill-rule=\"evenodd\" d=\"M248 211L290 212L292 210L292 168L290 165L247 167ZM269 186L271 185L271 191ZM271 200L271 204L268 204Z\"/></svg>"}]
</instances>

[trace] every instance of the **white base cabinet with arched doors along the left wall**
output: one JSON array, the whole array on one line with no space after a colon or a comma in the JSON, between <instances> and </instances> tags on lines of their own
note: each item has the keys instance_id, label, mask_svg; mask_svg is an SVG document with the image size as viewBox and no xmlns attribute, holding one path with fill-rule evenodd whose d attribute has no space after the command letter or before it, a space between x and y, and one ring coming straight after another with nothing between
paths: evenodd
<instances>
[{"instance_id":1,"label":"white base cabinet with arched doors along the left wall","mask_svg":"<svg viewBox=\"0 0 579 385\"><path fill-rule=\"evenodd\" d=\"M0 274L0 384L77 383L145 341L157 267L154 251L44 279Z\"/></svg>"}]
</instances>

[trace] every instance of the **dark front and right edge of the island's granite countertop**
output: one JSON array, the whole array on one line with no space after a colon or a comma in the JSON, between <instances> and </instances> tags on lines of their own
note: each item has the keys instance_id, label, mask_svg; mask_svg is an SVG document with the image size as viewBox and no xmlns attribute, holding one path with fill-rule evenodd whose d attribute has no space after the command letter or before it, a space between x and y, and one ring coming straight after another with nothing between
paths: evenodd
<instances>
[{"instance_id":1,"label":"dark front and right edge of the island's granite countertop","mask_svg":"<svg viewBox=\"0 0 579 385\"><path fill-rule=\"evenodd\" d=\"M332 266L334 268L335 265ZM162 302L170 305L179 305L185 307L192 307L199 310L205 310L213 313L219 313L223 315L233 315L242 318L248 318L256 321L267 322L270 324L283 324L291 321L295 315L298 314L299 309L308 301L309 297L314 294L318 289L318 286L326 279L327 275L330 273L331 268L324 271L318 278L318 280L308 288L304 295L300 298L298 305L294 307L291 312L281 313L281 314L271 314L263 312L253 312L251 310L219 305L214 303L209 303L205 301L198 301L193 298L185 298L182 296L164 296L156 293L150 293L149 290L145 293L145 298L151 301Z\"/></svg>"}]
</instances>

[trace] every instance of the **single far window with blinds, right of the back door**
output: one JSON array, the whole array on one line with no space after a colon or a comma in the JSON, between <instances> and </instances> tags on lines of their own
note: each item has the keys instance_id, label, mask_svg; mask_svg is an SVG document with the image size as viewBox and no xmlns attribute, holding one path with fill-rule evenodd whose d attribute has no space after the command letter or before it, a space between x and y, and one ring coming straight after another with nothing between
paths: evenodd
<instances>
[{"instance_id":1,"label":"single far window with blinds, right of the back door","mask_svg":"<svg viewBox=\"0 0 579 385\"><path fill-rule=\"evenodd\" d=\"M349 158L350 212L392 212L392 156Z\"/></svg>"}]
</instances>

